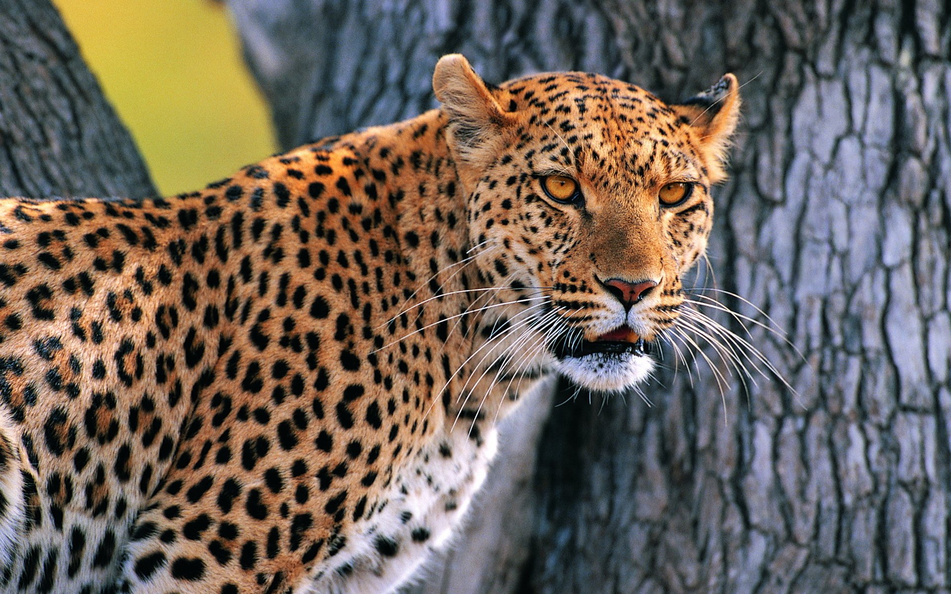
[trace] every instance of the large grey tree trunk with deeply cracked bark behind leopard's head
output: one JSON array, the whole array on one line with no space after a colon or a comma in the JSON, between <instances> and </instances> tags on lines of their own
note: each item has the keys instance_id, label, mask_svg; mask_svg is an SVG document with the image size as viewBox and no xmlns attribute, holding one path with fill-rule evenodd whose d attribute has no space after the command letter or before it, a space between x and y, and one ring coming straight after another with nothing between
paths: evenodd
<instances>
[{"instance_id":1,"label":"large grey tree trunk with deeply cracked bark behind leopard's head","mask_svg":"<svg viewBox=\"0 0 951 594\"><path fill-rule=\"evenodd\" d=\"M499 545L463 535L412 591L951 591L946 3L229 6L284 146L434 105L449 51L495 81L584 69L670 98L725 71L745 84L709 256L717 286L802 351L750 328L798 395L735 374L721 394L701 364L660 374L652 407L554 408L537 458L521 452L533 464L496 481L519 496L490 493L471 520L484 532L507 514Z\"/></svg>"}]
</instances>

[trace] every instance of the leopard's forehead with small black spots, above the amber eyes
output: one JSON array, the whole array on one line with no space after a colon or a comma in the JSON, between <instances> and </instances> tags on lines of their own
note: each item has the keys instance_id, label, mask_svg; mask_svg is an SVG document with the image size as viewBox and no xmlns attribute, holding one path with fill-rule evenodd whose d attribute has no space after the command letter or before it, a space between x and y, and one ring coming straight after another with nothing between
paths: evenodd
<instances>
[{"instance_id":1,"label":"leopard's forehead with small black spots, above the amber eyes","mask_svg":"<svg viewBox=\"0 0 951 594\"><path fill-rule=\"evenodd\" d=\"M689 120L640 86L567 72L499 88L503 106L522 116L520 144L543 143L530 148L540 167L576 167L608 190L702 173Z\"/></svg>"}]
</instances>

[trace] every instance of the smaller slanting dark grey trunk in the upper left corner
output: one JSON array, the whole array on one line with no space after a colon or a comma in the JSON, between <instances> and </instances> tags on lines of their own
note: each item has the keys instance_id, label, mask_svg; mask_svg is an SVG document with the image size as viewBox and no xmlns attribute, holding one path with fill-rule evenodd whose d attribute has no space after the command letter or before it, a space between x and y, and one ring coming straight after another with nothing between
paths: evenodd
<instances>
[{"instance_id":1,"label":"smaller slanting dark grey trunk in the upper left corner","mask_svg":"<svg viewBox=\"0 0 951 594\"><path fill-rule=\"evenodd\" d=\"M132 137L46 0L0 0L0 196L155 196Z\"/></svg>"}]
</instances>

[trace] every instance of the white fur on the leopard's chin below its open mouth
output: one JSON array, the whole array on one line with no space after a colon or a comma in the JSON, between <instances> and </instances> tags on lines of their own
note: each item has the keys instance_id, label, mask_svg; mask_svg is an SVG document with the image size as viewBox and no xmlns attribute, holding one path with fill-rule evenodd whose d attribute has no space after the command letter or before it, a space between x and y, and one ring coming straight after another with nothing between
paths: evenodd
<instances>
[{"instance_id":1,"label":"white fur on the leopard's chin below its open mouth","mask_svg":"<svg viewBox=\"0 0 951 594\"><path fill-rule=\"evenodd\" d=\"M650 376L654 361L641 354L588 354L565 357L558 371L575 384L598 392L621 392Z\"/></svg>"}]
</instances>

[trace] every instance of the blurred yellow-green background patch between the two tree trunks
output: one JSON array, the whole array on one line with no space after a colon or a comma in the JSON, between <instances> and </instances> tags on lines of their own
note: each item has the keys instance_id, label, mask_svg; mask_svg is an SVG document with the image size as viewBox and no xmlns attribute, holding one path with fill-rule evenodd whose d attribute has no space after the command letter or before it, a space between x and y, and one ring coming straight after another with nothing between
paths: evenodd
<instances>
[{"instance_id":1,"label":"blurred yellow-green background patch between the two tree trunks","mask_svg":"<svg viewBox=\"0 0 951 594\"><path fill-rule=\"evenodd\" d=\"M164 195L275 152L229 15L211 0L53 0Z\"/></svg>"}]
</instances>

